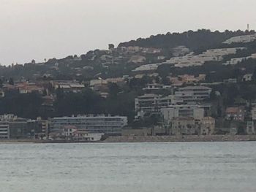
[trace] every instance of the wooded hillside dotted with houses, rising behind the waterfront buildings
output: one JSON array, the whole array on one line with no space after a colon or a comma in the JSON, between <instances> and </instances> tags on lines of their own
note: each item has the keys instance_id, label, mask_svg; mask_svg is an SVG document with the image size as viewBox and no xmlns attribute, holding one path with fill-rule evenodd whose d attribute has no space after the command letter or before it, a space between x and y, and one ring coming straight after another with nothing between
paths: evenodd
<instances>
[{"instance_id":1,"label":"wooded hillside dotted with houses, rising behind the waterfront buildings","mask_svg":"<svg viewBox=\"0 0 256 192\"><path fill-rule=\"evenodd\" d=\"M254 31L157 35L80 56L0 66L0 114L47 119L102 113L125 115L133 123L135 98L151 93L152 84L160 86L153 90L159 97L205 85L221 95L208 102L213 116L222 119L227 107L256 101L255 69ZM132 126L158 120L139 123Z\"/></svg>"}]
</instances>

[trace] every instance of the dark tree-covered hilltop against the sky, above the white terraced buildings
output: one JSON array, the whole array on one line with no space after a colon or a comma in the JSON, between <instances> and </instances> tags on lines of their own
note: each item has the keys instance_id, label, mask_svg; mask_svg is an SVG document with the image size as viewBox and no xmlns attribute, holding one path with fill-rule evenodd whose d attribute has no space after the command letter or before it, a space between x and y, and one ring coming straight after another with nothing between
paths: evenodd
<instances>
[{"instance_id":1,"label":"dark tree-covered hilltop against the sky, above the white terraced buildings","mask_svg":"<svg viewBox=\"0 0 256 192\"><path fill-rule=\"evenodd\" d=\"M183 33L168 32L167 34L152 35L146 39L139 38L129 42L122 42L118 47L157 47L162 49L172 49L180 45L189 47L191 50L198 50L202 48L217 47L222 42L231 37L255 34L255 31L211 31L207 29L200 29L198 31L186 31Z\"/></svg>"}]
</instances>

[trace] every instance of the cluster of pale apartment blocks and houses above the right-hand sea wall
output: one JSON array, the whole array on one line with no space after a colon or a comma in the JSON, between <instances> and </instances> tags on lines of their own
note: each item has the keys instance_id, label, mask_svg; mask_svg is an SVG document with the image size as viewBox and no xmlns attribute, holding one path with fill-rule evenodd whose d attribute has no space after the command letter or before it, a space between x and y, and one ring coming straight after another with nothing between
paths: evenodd
<instances>
[{"instance_id":1,"label":"cluster of pale apartment blocks and houses above the right-hand sea wall","mask_svg":"<svg viewBox=\"0 0 256 192\"><path fill-rule=\"evenodd\" d=\"M210 101L211 88L200 85L173 88L171 91L173 94L168 96L154 93L156 90L165 88L164 85L148 85L145 90L150 90L151 93L145 93L135 98L135 111L137 112L135 120L151 115L161 117L159 120L161 129L158 128L159 132L157 132L157 128L155 128L155 134L211 135L222 131L225 131L226 134L238 134L239 123L244 123L242 128L246 134L255 134L255 105L252 105L252 110L249 112L251 120L245 119L244 105L227 107L222 121L227 121L228 125L223 126L219 119L211 117L214 108ZM132 134L132 131L130 133ZM138 130L135 133L138 134Z\"/></svg>"}]
</instances>

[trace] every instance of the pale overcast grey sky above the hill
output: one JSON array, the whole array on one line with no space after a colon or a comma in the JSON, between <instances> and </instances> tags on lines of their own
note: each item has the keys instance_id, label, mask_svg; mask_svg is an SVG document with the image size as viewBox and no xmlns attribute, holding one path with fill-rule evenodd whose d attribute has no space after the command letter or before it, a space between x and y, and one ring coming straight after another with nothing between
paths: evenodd
<instances>
[{"instance_id":1,"label":"pale overcast grey sky above the hill","mask_svg":"<svg viewBox=\"0 0 256 192\"><path fill-rule=\"evenodd\" d=\"M64 58L139 37L256 29L255 0L0 0L0 64Z\"/></svg>"}]
</instances>

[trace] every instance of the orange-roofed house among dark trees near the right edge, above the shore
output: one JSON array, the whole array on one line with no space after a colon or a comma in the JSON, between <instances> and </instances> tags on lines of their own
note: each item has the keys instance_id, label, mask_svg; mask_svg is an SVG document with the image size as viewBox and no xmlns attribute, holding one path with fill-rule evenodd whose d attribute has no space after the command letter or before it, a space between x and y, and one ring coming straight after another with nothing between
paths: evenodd
<instances>
[{"instance_id":1,"label":"orange-roofed house among dark trees near the right edge, above the shore","mask_svg":"<svg viewBox=\"0 0 256 192\"><path fill-rule=\"evenodd\" d=\"M238 120L244 121L244 107L227 107L226 109L226 120Z\"/></svg>"}]
</instances>

